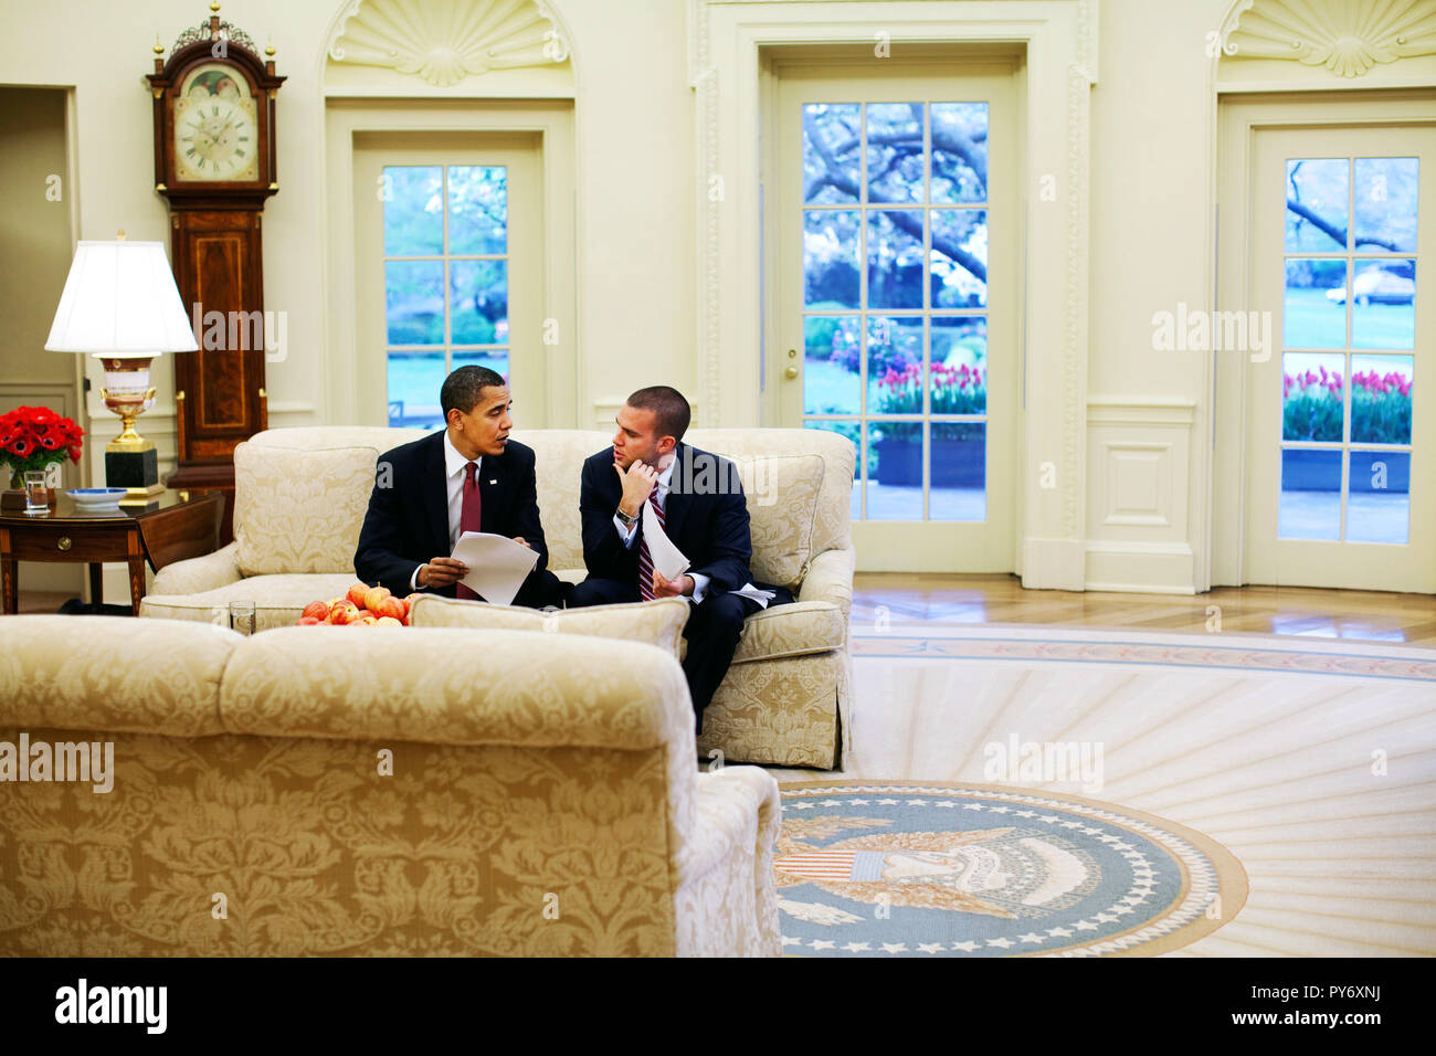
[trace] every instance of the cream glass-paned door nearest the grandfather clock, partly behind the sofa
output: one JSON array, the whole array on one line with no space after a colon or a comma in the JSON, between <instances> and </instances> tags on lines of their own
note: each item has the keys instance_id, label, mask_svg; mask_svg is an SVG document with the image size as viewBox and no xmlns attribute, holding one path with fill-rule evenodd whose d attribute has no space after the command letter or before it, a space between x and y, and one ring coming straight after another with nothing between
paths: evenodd
<instances>
[{"instance_id":1,"label":"cream glass-paned door nearest the grandfather clock, partly behind the sofa","mask_svg":"<svg viewBox=\"0 0 1436 1056\"><path fill-rule=\"evenodd\" d=\"M362 421L441 425L444 378L477 363L510 379L526 428L547 424L541 187L527 134L356 136Z\"/></svg>"}]
</instances>

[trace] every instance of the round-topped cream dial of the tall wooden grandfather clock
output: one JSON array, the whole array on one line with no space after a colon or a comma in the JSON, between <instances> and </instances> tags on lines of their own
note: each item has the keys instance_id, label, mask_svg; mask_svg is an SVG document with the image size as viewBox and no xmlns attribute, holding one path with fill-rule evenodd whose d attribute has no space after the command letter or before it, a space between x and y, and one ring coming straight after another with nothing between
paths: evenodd
<instances>
[{"instance_id":1,"label":"round-topped cream dial of the tall wooden grandfather clock","mask_svg":"<svg viewBox=\"0 0 1436 1056\"><path fill-rule=\"evenodd\" d=\"M248 80L223 63L190 70L174 101L175 178L258 180L258 122Z\"/></svg>"}]
</instances>

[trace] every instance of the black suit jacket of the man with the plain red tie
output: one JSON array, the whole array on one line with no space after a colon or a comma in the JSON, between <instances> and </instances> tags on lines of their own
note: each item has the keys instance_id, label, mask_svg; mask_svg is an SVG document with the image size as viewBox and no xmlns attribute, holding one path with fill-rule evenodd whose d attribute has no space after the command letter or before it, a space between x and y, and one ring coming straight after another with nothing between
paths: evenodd
<instances>
[{"instance_id":1,"label":"black suit jacket of the man with the plain red tie","mask_svg":"<svg viewBox=\"0 0 1436 1056\"><path fill-rule=\"evenodd\" d=\"M549 565L538 522L533 448L510 440L500 455L478 464L480 530L510 539L521 536L538 552L526 580ZM411 592L414 569L452 552L448 537L448 490L444 481L444 430L379 455L369 510L359 532L355 572L366 583ZM454 586L435 593L454 596Z\"/></svg>"}]
</instances>

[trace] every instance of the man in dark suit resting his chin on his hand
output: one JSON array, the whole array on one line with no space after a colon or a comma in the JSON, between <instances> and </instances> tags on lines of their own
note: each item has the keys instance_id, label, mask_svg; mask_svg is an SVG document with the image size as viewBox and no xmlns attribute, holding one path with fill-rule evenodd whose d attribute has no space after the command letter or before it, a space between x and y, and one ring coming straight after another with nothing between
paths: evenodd
<instances>
[{"instance_id":1,"label":"man in dark suit resting his chin on his hand","mask_svg":"<svg viewBox=\"0 0 1436 1056\"><path fill-rule=\"evenodd\" d=\"M678 389L639 389L619 408L613 447L583 463L579 509L589 578L573 588L569 608L686 596L692 611L684 628L684 674L702 733L704 708L728 672L742 621L770 602L740 593L754 585L748 504L737 467L684 444L688 420ZM653 507L646 519L645 506ZM646 524L656 524L688 557L688 572L668 580L653 568ZM783 588L767 589L777 595L771 603L793 601Z\"/></svg>"}]
</instances>

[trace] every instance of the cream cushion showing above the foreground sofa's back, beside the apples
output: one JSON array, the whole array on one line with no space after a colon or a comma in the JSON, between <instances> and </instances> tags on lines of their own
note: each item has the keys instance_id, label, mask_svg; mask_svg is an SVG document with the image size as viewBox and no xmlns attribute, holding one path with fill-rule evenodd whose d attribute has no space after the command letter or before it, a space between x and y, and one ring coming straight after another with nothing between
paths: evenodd
<instances>
[{"instance_id":1,"label":"cream cushion showing above the foreground sofa's back, beside the apples","mask_svg":"<svg viewBox=\"0 0 1436 1056\"><path fill-rule=\"evenodd\" d=\"M688 624L688 602L682 598L538 612L517 605L487 605L428 595L418 598L409 612L411 626L553 631L590 638L620 638L656 645L673 657L679 657L678 645L684 638L685 624Z\"/></svg>"}]
</instances>

